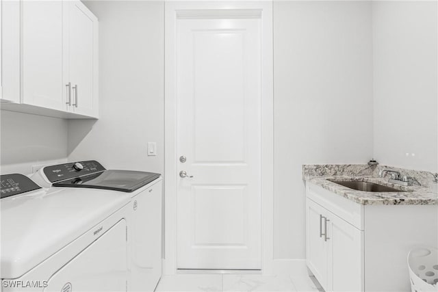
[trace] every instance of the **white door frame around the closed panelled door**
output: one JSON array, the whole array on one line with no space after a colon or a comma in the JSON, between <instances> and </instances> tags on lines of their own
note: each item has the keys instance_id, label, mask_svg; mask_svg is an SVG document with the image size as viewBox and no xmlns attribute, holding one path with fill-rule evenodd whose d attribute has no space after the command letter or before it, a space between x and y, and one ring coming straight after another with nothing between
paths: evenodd
<instances>
[{"instance_id":1,"label":"white door frame around the closed panelled door","mask_svg":"<svg viewBox=\"0 0 438 292\"><path fill-rule=\"evenodd\" d=\"M164 261L163 274L177 274L177 97L176 25L178 16L236 18L261 14L261 272L272 274L274 252L274 93L272 0L166 1L164 84ZM218 271L219 272L219 271ZM180 273L179 273L180 274Z\"/></svg>"}]
</instances>

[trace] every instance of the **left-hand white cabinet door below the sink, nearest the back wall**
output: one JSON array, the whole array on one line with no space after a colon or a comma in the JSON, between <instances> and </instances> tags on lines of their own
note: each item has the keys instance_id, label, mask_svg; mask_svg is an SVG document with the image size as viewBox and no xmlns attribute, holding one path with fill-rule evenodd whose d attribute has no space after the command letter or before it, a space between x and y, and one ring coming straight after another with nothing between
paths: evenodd
<instances>
[{"instance_id":1,"label":"left-hand white cabinet door below the sink, nearest the back wall","mask_svg":"<svg viewBox=\"0 0 438 292\"><path fill-rule=\"evenodd\" d=\"M327 287L327 244L321 233L324 232L320 215L325 215L326 210L312 200L306 200L307 215L307 266L318 279L324 289Z\"/></svg>"}]
</instances>

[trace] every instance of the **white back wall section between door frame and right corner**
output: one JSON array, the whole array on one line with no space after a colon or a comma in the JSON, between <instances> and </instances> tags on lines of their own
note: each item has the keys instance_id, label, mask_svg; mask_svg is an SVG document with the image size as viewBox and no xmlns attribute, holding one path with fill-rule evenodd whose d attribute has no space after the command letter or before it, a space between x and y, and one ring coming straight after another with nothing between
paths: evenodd
<instances>
[{"instance_id":1,"label":"white back wall section between door frame and right corner","mask_svg":"<svg viewBox=\"0 0 438 292\"><path fill-rule=\"evenodd\" d=\"M274 257L305 258L303 163L372 155L372 6L274 2Z\"/></svg>"}]
</instances>

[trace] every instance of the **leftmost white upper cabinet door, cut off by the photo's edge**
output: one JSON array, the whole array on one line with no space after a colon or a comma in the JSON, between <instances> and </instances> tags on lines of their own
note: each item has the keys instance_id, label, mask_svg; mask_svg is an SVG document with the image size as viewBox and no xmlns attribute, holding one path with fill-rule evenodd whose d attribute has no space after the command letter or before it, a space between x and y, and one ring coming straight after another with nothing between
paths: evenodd
<instances>
[{"instance_id":1,"label":"leftmost white upper cabinet door, cut off by the photo's edge","mask_svg":"<svg viewBox=\"0 0 438 292\"><path fill-rule=\"evenodd\" d=\"M1 1L1 101L20 103L20 2Z\"/></svg>"}]
</instances>

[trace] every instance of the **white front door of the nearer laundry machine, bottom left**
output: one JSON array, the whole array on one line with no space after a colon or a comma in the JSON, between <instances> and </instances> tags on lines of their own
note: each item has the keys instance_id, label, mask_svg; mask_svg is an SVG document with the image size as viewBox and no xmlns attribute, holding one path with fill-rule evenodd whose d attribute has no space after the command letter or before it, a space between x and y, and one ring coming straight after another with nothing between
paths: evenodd
<instances>
[{"instance_id":1,"label":"white front door of the nearer laundry machine, bottom left","mask_svg":"<svg viewBox=\"0 0 438 292\"><path fill-rule=\"evenodd\" d=\"M126 222L120 220L59 269L44 291L126 291Z\"/></svg>"}]
</instances>

